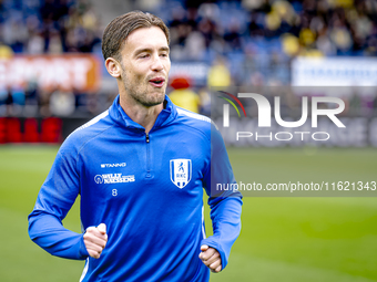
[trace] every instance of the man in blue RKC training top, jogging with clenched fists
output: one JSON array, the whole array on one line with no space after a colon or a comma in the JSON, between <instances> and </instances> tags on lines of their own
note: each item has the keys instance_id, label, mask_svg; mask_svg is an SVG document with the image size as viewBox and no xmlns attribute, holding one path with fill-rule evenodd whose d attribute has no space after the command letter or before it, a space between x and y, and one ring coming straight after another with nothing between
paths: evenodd
<instances>
[{"instance_id":1,"label":"man in blue RKC training top, jogging with clenched fists","mask_svg":"<svg viewBox=\"0 0 377 282\"><path fill-rule=\"evenodd\" d=\"M211 189L234 182L221 135L165 95L161 19L115 18L102 51L120 94L62 144L29 216L30 238L54 255L86 259L81 281L208 281L241 229L241 195ZM212 196L206 239L202 187ZM79 194L82 234L61 223Z\"/></svg>"}]
</instances>

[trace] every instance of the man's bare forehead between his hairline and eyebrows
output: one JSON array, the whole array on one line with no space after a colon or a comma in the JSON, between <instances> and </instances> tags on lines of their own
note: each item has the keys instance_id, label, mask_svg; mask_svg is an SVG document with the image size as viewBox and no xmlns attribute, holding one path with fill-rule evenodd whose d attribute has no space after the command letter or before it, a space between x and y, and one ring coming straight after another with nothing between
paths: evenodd
<instances>
[{"instance_id":1,"label":"man's bare forehead between his hairline and eyebrows","mask_svg":"<svg viewBox=\"0 0 377 282\"><path fill-rule=\"evenodd\" d=\"M139 49L160 49L167 46L165 33L157 27L141 28L132 31L124 41L123 52Z\"/></svg>"}]
</instances>

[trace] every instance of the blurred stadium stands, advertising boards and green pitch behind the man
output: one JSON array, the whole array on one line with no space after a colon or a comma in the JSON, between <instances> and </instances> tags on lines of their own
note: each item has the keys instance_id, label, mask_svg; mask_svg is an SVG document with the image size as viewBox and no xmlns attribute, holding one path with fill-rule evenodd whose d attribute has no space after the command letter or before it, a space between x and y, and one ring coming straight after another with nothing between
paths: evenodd
<instances>
[{"instance_id":1,"label":"blurred stadium stands, advertising boards and green pitch behind the man","mask_svg":"<svg viewBox=\"0 0 377 282\"><path fill-rule=\"evenodd\" d=\"M169 25L167 93L192 111L211 114L211 87L289 87L282 111L296 117L300 95L336 86L347 135L323 147L230 142L238 180L377 180L375 0L0 0L0 281L80 278L83 262L30 241L27 216L59 144L118 94L101 36L134 9ZM64 226L80 231L78 205ZM376 242L374 197L245 197L230 264L211 281L377 281Z\"/></svg>"}]
</instances>

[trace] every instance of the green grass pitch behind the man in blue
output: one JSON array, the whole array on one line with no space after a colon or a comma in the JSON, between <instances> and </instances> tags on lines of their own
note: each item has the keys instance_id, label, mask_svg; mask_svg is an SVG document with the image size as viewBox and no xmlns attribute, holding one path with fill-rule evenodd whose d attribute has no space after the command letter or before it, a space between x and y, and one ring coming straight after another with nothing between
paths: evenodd
<instances>
[{"instance_id":1,"label":"green grass pitch behind the man in blue","mask_svg":"<svg viewBox=\"0 0 377 282\"><path fill-rule=\"evenodd\" d=\"M79 281L83 261L48 254L27 232L27 217L57 149L0 147L0 281ZM373 148L228 153L244 182L377 180ZM213 282L377 281L377 198L245 197L242 220L230 264L212 274ZM210 233L208 217L206 223ZM78 205L64 226L80 231Z\"/></svg>"}]
</instances>

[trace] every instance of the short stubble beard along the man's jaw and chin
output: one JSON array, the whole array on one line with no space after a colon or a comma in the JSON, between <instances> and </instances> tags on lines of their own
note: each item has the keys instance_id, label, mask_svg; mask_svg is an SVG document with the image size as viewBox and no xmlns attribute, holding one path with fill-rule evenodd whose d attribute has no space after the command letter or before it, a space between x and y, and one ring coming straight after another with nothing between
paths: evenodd
<instances>
[{"instance_id":1,"label":"short stubble beard along the man's jaw and chin","mask_svg":"<svg viewBox=\"0 0 377 282\"><path fill-rule=\"evenodd\" d=\"M126 94L132 100L145 107L156 106L164 102L166 87L161 88L161 94L159 93L157 95L149 95L146 88L143 88L141 85L130 85L130 82L128 81L128 75L122 64L122 83Z\"/></svg>"}]
</instances>

